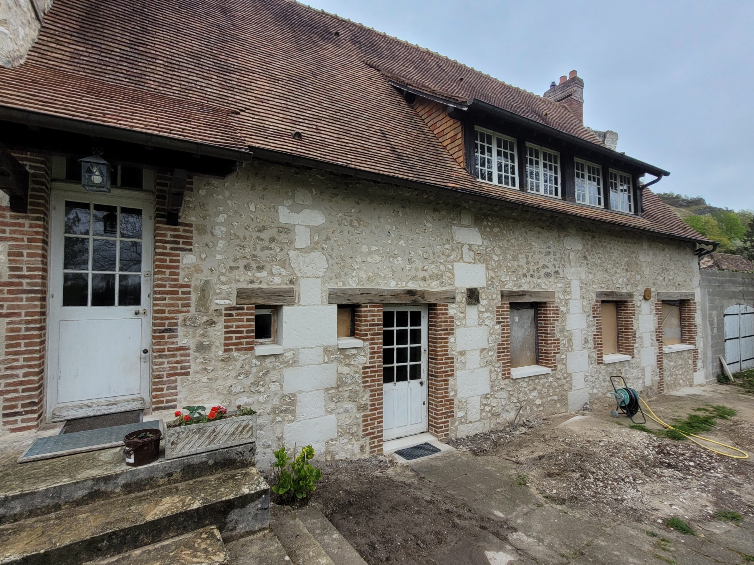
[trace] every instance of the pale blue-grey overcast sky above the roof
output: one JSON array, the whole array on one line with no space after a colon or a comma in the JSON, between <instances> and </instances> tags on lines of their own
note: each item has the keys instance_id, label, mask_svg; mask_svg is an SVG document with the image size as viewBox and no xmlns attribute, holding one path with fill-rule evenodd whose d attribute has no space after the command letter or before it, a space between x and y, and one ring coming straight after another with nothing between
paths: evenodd
<instances>
[{"instance_id":1,"label":"pale blue-grey overcast sky above the roof","mask_svg":"<svg viewBox=\"0 0 754 565\"><path fill-rule=\"evenodd\" d=\"M750 0L310 4L539 95L576 69L585 124L672 173L654 191L754 208Z\"/></svg>"}]
</instances>

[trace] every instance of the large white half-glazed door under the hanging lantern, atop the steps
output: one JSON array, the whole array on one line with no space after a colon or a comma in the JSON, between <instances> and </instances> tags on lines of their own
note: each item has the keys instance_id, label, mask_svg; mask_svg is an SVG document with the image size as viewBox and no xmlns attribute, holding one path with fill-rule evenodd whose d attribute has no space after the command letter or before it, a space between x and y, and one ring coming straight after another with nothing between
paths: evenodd
<instances>
[{"instance_id":1,"label":"large white half-glazed door under the hanging lantern, atop the steps","mask_svg":"<svg viewBox=\"0 0 754 565\"><path fill-rule=\"evenodd\" d=\"M53 191L48 417L149 400L151 194Z\"/></svg>"}]
</instances>

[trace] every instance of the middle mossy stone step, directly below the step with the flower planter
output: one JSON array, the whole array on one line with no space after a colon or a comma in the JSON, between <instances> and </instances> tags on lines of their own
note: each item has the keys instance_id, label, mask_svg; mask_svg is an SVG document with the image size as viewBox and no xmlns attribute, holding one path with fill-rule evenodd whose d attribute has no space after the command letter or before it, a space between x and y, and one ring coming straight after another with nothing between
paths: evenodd
<instances>
[{"instance_id":1,"label":"middle mossy stone step, directly below the step with the flower planter","mask_svg":"<svg viewBox=\"0 0 754 565\"><path fill-rule=\"evenodd\" d=\"M77 565L215 525L226 541L269 526L254 467L101 500L0 526L0 563Z\"/></svg>"}]
</instances>

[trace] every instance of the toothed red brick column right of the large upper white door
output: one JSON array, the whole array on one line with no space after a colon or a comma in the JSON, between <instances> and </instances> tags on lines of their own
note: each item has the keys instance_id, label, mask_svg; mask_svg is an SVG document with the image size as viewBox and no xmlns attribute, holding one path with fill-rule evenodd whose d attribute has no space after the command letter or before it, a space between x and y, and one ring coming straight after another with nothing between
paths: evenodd
<instances>
[{"instance_id":1,"label":"toothed red brick column right of the large upper white door","mask_svg":"<svg viewBox=\"0 0 754 565\"><path fill-rule=\"evenodd\" d=\"M193 190L193 177L186 191ZM179 341L181 316L191 311L191 283L181 278L181 254L193 251L194 224L167 225L170 174L155 182L155 259L152 292L152 409L176 408L178 380L189 376L191 347Z\"/></svg>"}]
</instances>

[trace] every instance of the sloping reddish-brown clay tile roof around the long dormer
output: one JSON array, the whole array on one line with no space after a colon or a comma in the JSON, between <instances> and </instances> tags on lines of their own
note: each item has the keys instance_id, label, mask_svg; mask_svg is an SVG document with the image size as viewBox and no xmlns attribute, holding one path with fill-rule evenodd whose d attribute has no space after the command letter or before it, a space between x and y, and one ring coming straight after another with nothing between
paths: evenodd
<instances>
[{"instance_id":1,"label":"sloping reddish-brown clay tile roof around the long dormer","mask_svg":"<svg viewBox=\"0 0 754 565\"><path fill-rule=\"evenodd\" d=\"M646 190L637 217L477 182L391 78L446 99L482 100L599 143L565 105L286 0L56 0L26 63L0 68L0 106L277 151L504 205L706 241Z\"/></svg>"}]
</instances>

